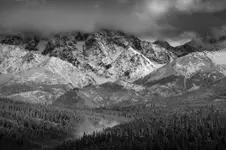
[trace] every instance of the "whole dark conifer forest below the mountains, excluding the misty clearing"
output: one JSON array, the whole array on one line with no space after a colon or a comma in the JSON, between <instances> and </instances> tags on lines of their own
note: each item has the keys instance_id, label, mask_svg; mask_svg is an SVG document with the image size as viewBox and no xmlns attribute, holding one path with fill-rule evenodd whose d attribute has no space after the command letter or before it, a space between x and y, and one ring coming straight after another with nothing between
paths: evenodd
<instances>
[{"instance_id":1,"label":"whole dark conifer forest below the mountains, excluding the misty clearing","mask_svg":"<svg viewBox=\"0 0 226 150\"><path fill-rule=\"evenodd\" d=\"M215 106L181 109L127 107L93 109L130 121L73 138L86 111L0 100L0 148L49 150L212 150L226 149L226 111Z\"/></svg>"}]
</instances>

